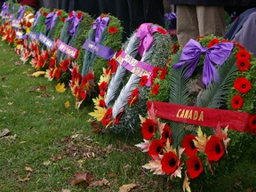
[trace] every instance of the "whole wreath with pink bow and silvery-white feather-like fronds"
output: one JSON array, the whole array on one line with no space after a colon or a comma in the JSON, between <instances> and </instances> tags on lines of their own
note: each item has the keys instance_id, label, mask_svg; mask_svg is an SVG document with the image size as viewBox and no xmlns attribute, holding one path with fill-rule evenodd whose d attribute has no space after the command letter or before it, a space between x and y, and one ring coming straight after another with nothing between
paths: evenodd
<instances>
[{"instance_id":1,"label":"whole wreath with pink bow and silvery-white feather-like fronds","mask_svg":"<svg viewBox=\"0 0 256 192\"><path fill-rule=\"evenodd\" d=\"M141 38L140 34L148 30L155 30L155 33L151 33L153 34L151 46L143 50L141 44L147 37ZM157 85L153 87L150 85L154 80L155 71L165 67L171 54L170 46L171 38L164 28L150 23L141 25L123 45L123 49L108 62L108 68L104 69L103 75L100 76L98 83L100 94L97 99L93 100L95 109L90 115L114 132L133 132L139 121L138 114L146 113L146 92L151 89L152 92L157 92ZM126 54L129 57L125 56ZM150 76L146 71L143 72L145 75L136 74L136 71L129 72L122 66L122 61L118 64L125 57L130 58L133 63L148 63L151 66L148 68L152 69ZM134 58L139 58L139 60ZM123 88L122 84L124 84ZM144 86L145 84L148 86Z\"/></svg>"}]
</instances>

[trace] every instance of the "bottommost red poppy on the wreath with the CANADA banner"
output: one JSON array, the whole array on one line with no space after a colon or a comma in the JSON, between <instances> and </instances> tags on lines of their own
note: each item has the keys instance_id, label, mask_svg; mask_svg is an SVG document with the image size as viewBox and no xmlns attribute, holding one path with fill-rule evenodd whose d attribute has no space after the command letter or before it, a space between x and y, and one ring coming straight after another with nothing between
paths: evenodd
<instances>
[{"instance_id":1,"label":"bottommost red poppy on the wreath with the CANADA banner","mask_svg":"<svg viewBox=\"0 0 256 192\"><path fill-rule=\"evenodd\" d=\"M204 167L198 156L190 156L187 160L188 175L191 179L198 177L203 172Z\"/></svg>"}]
</instances>

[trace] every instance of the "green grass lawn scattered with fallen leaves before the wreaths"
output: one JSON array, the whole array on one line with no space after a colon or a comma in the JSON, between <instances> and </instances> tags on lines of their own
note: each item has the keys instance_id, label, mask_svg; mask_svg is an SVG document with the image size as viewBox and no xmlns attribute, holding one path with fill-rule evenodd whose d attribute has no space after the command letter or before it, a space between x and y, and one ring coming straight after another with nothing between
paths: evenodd
<instances>
[{"instance_id":1,"label":"green grass lawn scattered with fallen leaves before the wreaths","mask_svg":"<svg viewBox=\"0 0 256 192\"><path fill-rule=\"evenodd\" d=\"M129 137L92 132L87 122L92 105L77 110L71 92L56 92L56 82L29 76L34 71L21 64L11 46L0 43L0 130L11 131L11 137L0 138L1 192L84 191L83 186L68 183L76 172L92 172L93 180L110 182L110 188L86 191L118 191L130 183L137 184L132 191L182 190L180 181L141 168L148 156L134 147L142 140L140 131ZM45 90L31 91L42 85ZM65 108L66 101L70 108ZM193 184L194 191L255 191L255 139L234 166L217 172L211 182ZM33 170L30 175L26 166ZM28 181L19 181L26 177Z\"/></svg>"}]
</instances>

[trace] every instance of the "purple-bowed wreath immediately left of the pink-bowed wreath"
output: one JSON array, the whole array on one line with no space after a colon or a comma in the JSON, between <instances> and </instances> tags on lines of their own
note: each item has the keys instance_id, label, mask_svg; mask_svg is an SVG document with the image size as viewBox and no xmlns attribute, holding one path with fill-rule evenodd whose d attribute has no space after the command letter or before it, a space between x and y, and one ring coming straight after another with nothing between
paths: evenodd
<instances>
[{"instance_id":1,"label":"purple-bowed wreath immediately left of the pink-bowed wreath","mask_svg":"<svg viewBox=\"0 0 256 192\"><path fill-rule=\"evenodd\" d=\"M120 49L122 33L123 28L120 20L109 14L101 14L92 22L92 28L86 35L83 49L80 50L78 62L73 65L69 84L73 95L76 97L76 108L79 108L83 101L91 96L92 92L99 90L95 82L99 81L102 68L107 68L108 60ZM95 44L94 48L96 49L99 49L96 46L100 46L99 52L110 52L110 54L107 56L100 55L89 47L90 44ZM82 63L81 60L83 60Z\"/></svg>"}]
</instances>

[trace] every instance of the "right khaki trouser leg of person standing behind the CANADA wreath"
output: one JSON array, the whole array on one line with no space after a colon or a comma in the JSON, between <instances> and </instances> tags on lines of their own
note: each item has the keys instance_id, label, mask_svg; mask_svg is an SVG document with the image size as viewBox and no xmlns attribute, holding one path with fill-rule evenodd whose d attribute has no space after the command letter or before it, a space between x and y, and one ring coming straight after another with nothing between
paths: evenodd
<instances>
[{"instance_id":1,"label":"right khaki trouser leg of person standing behind the CANADA wreath","mask_svg":"<svg viewBox=\"0 0 256 192\"><path fill-rule=\"evenodd\" d=\"M221 6L196 6L199 36L224 36L225 11Z\"/></svg>"}]
</instances>

